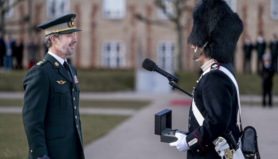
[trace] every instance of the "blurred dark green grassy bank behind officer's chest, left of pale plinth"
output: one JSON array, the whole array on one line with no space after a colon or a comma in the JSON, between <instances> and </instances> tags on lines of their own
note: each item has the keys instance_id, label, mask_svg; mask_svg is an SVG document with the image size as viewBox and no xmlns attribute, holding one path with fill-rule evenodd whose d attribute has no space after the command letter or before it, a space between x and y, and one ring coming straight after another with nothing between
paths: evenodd
<instances>
[{"instance_id":1,"label":"blurred dark green grassy bank behind officer's chest, left of pale plinth","mask_svg":"<svg viewBox=\"0 0 278 159\"><path fill-rule=\"evenodd\" d=\"M0 91L24 91L22 80L27 70L12 70L0 75ZM134 72L122 70L78 70L78 85L83 91L127 91L134 89Z\"/></svg>"}]
</instances>

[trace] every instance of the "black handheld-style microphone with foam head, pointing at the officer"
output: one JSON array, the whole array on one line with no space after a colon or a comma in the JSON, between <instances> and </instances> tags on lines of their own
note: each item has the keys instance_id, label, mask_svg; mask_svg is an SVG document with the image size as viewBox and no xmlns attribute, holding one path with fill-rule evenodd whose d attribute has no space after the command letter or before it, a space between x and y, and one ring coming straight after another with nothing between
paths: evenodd
<instances>
[{"instance_id":1,"label":"black handheld-style microphone with foam head, pointing at the officer","mask_svg":"<svg viewBox=\"0 0 278 159\"><path fill-rule=\"evenodd\" d=\"M153 62L152 60L146 58L143 63L142 63L142 67L145 68L146 70L148 71L156 71L157 73L165 76L168 78L169 81L174 81L176 83L179 82L179 78L178 77L175 77L173 75L171 75L170 73L160 69L155 62Z\"/></svg>"}]
</instances>

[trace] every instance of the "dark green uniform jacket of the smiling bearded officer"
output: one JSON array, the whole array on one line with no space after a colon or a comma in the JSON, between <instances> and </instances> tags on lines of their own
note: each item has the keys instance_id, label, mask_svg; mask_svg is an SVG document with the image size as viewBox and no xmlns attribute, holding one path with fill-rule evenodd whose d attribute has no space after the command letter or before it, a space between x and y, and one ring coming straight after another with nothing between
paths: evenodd
<instances>
[{"instance_id":1,"label":"dark green uniform jacket of the smiling bearded officer","mask_svg":"<svg viewBox=\"0 0 278 159\"><path fill-rule=\"evenodd\" d=\"M76 70L69 73L52 55L46 54L23 79L23 124L28 139L28 158L48 154L51 159L83 158Z\"/></svg>"}]
</instances>

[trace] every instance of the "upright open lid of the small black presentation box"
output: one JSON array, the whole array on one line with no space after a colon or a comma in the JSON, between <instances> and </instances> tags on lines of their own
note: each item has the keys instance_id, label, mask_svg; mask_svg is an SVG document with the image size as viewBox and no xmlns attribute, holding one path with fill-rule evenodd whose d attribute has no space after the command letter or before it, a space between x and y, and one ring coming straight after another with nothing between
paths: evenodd
<instances>
[{"instance_id":1,"label":"upright open lid of the small black presentation box","mask_svg":"<svg viewBox=\"0 0 278 159\"><path fill-rule=\"evenodd\" d=\"M155 114L154 134L163 135L165 130L172 129L172 110L164 109Z\"/></svg>"}]
</instances>

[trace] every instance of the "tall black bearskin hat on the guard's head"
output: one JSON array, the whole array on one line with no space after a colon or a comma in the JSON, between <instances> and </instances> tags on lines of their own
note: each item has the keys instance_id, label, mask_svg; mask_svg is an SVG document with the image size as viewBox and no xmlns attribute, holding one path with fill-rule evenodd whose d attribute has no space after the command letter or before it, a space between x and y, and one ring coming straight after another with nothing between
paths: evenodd
<instances>
[{"instance_id":1,"label":"tall black bearskin hat on the guard's head","mask_svg":"<svg viewBox=\"0 0 278 159\"><path fill-rule=\"evenodd\" d=\"M224 0L200 0L193 10L193 27L188 44L204 48L205 56L229 63L243 24Z\"/></svg>"}]
</instances>

